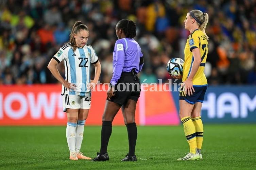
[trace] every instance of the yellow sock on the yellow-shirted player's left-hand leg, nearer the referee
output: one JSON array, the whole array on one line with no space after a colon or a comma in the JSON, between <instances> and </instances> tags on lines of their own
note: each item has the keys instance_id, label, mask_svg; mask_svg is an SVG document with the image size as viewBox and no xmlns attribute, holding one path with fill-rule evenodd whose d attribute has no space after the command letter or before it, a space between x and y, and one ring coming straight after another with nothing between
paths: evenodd
<instances>
[{"instance_id":1,"label":"yellow sock on the yellow-shirted player's left-hand leg, nearer the referee","mask_svg":"<svg viewBox=\"0 0 256 170\"><path fill-rule=\"evenodd\" d=\"M195 148L197 147L197 138L195 137L195 126L190 116L181 118L183 123L184 132L189 144L190 152L195 154Z\"/></svg>"}]
</instances>

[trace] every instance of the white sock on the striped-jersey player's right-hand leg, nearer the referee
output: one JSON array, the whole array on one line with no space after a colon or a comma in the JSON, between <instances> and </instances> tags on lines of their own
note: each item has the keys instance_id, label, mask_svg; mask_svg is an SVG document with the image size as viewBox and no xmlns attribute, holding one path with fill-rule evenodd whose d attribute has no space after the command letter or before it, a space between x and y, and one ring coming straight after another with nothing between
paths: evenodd
<instances>
[{"instance_id":1,"label":"white sock on the striped-jersey player's right-hand leg, nearer the referee","mask_svg":"<svg viewBox=\"0 0 256 170\"><path fill-rule=\"evenodd\" d=\"M83 136L84 136L84 123L85 120L78 120L77 126L75 129L76 137L75 137L75 152L79 153L81 149L81 145L83 142Z\"/></svg>"}]
</instances>

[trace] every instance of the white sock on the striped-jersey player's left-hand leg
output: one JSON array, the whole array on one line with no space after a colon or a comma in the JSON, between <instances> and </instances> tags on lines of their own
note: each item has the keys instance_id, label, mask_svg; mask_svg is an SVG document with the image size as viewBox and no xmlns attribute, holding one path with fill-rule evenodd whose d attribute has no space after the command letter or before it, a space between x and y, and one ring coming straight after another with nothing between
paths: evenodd
<instances>
[{"instance_id":1,"label":"white sock on the striped-jersey player's left-hand leg","mask_svg":"<svg viewBox=\"0 0 256 170\"><path fill-rule=\"evenodd\" d=\"M66 137L70 153L75 152L75 128L76 123L68 122L66 129Z\"/></svg>"}]
</instances>

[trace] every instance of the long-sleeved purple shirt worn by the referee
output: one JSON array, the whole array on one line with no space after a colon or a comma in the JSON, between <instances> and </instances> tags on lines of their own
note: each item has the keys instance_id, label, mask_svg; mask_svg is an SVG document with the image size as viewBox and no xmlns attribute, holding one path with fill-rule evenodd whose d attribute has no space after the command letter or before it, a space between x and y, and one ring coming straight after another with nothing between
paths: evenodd
<instances>
[{"instance_id":1,"label":"long-sleeved purple shirt worn by the referee","mask_svg":"<svg viewBox=\"0 0 256 170\"><path fill-rule=\"evenodd\" d=\"M111 84L116 85L122 72L130 72L133 68L138 73L143 64L139 65L143 56L137 41L132 38L122 38L116 41L113 52L113 77Z\"/></svg>"}]
</instances>

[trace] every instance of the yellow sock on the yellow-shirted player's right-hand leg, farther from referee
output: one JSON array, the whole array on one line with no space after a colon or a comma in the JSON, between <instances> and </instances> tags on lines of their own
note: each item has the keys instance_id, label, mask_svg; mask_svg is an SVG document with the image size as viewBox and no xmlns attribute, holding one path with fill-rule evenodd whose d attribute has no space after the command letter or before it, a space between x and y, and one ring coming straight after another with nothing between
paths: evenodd
<instances>
[{"instance_id":1,"label":"yellow sock on the yellow-shirted player's right-hand leg, farther from referee","mask_svg":"<svg viewBox=\"0 0 256 170\"><path fill-rule=\"evenodd\" d=\"M195 136L197 138L197 148L202 149L203 138L204 138L204 128L201 116L192 118L195 126Z\"/></svg>"}]
</instances>

